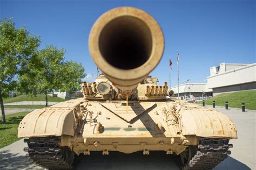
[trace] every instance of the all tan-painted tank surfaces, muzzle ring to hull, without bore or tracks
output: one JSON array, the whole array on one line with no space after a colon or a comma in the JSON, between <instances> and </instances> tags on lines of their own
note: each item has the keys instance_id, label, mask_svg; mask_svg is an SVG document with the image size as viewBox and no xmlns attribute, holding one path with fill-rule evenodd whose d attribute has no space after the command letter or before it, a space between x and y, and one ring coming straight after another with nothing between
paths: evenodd
<instances>
[{"instance_id":1,"label":"all tan-painted tank surfaces, muzzle ring to hull, without bore or tracks","mask_svg":"<svg viewBox=\"0 0 256 170\"><path fill-rule=\"evenodd\" d=\"M142 66L130 70L111 66L97 45L104 25L122 15L140 18L152 32L152 55ZM60 146L69 146L77 154L90 151L179 154L189 145L198 145L199 137L237 139L237 129L230 118L197 104L167 100L167 84L160 86L146 77L160 61L164 47L159 25L146 12L125 7L104 13L92 28L89 47L93 60L109 80L102 74L93 83L84 82L84 98L32 111L19 124L19 138L58 136ZM103 81L111 86L107 95L97 91L97 84ZM111 100L112 94L112 98L119 94L112 82L128 87L136 84L132 97L137 100L129 101L127 108L126 101Z\"/></svg>"}]
</instances>

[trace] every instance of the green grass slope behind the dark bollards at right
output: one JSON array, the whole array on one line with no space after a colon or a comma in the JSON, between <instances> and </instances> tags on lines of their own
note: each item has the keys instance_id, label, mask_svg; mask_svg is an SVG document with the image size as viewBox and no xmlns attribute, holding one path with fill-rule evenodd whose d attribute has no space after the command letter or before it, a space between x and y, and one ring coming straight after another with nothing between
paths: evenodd
<instances>
[{"instance_id":1,"label":"green grass slope behind the dark bollards at right","mask_svg":"<svg viewBox=\"0 0 256 170\"><path fill-rule=\"evenodd\" d=\"M215 101L215 105L223 107L225 102L228 102L228 107L240 109L242 108L241 103L245 103L245 109L256 110L256 90L220 94L206 100L205 104L212 105L212 101Z\"/></svg>"}]
</instances>

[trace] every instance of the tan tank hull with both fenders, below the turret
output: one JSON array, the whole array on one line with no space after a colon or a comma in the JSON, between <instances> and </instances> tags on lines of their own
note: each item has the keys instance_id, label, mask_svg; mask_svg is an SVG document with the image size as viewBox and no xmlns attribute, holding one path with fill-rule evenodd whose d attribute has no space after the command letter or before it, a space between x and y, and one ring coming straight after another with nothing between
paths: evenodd
<instances>
[{"instance_id":1,"label":"tan tank hull with both fenders, below the turret","mask_svg":"<svg viewBox=\"0 0 256 170\"><path fill-rule=\"evenodd\" d=\"M81 105L85 107L80 109ZM126 110L125 101L80 98L35 110L19 124L18 137L49 136L60 137L59 145L76 154L180 154L187 146L198 145L201 137L236 139L237 130L227 116L197 104L130 101Z\"/></svg>"}]
</instances>

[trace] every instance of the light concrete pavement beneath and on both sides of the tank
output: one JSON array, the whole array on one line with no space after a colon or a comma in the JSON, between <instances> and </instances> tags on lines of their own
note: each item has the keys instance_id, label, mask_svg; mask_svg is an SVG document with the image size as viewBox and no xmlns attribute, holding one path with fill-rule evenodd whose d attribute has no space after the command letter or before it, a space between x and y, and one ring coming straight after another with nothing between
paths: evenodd
<instances>
[{"instance_id":1,"label":"light concrete pavement beneath and on both sides of the tank","mask_svg":"<svg viewBox=\"0 0 256 170\"><path fill-rule=\"evenodd\" d=\"M238 129L238 139L231 140L231 157L221 162L216 169L256 169L255 165L255 111L241 112L237 109L225 110L217 107L229 116ZM25 143L19 140L14 144L0 149L0 169L42 169L33 165L23 151ZM164 152L150 152L143 155L141 152L123 154L110 152L102 155L101 152L83 155L82 161L76 169L178 169L171 155Z\"/></svg>"}]
</instances>

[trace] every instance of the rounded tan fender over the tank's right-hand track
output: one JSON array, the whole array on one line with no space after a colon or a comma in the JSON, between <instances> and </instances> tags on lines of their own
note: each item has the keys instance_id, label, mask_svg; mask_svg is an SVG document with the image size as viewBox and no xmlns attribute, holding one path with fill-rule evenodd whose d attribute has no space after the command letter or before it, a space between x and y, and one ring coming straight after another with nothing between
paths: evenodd
<instances>
[{"instance_id":1,"label":"rounded tan fender over the tank's right-hand track","mask_svg":"<svg viewBox=\"0 0 256 170\"><path fill-rule=\"evenodd\" d=\"M209 108L182 109L181 130L184 136L237 139L233 121L221 112Z\"/></svg>"}]
</instances>

